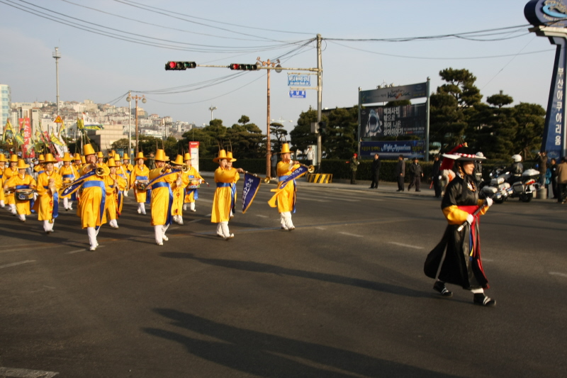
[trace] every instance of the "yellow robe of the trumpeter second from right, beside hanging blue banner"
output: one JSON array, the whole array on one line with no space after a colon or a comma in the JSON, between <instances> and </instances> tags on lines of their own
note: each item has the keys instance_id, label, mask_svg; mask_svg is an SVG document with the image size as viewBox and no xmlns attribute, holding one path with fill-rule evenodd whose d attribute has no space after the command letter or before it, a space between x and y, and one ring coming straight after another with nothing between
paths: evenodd
<instances>
[{"instance_id":1,"label":"yellow robe of the trumpeter second from right, beside hanging blue banner","mask_svg":"<svg viewBox=\"0 0 567 378\"><path fill-rule=\"evenodd\" d=\"M233 208L236 201L236 182L240 174L236 169L215 170L217 189L213 198L213 211L210 214L211 223L228 222L234 216Z\"/></svg>"}]
</instances>

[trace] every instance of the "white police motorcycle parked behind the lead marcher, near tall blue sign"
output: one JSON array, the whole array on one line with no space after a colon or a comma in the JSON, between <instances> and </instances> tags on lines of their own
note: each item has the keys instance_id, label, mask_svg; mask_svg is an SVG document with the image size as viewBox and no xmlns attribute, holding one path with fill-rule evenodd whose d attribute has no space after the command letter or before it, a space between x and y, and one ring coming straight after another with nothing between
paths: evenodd
<instances>
[{"instance_id":1,"label":"white police motorcycle parked behind the lead marcher, near tall blue sign","mask_svg":"<svg viewBox=\"0 0 567 378\"><path fill-rule=\"evenodd\" d=\"M492 196L493 201L502 204L509 197L519 198L522 202L532 201L534 192L539 190L537 177L539 171L536 169L524 169L522 166L522 157L520 155L512 156L514 164L512 167L495 167L490 172L490 185L485 186L482 192L485 196Z\"/></svg>"}]
</instances>

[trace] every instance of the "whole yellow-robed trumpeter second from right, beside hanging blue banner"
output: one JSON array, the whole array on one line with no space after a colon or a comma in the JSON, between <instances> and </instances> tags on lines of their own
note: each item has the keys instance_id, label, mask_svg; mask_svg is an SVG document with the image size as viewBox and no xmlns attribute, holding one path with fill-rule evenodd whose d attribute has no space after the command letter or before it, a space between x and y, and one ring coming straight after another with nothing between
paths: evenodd
<instances>
[{"instance_id":1,"label":"whole yellow-robed trumpeter second from right, beside hanging blue banner","mask_svg":"<svg viewBox=\"0 0 567 378\"><path fill-rule=\"evenodd\" d=\"M230 159L236 161L236 159ZM244 173L242 168L228 167L229 159L225 150L218 152L218 157L213 159L218 162L219 167L215 170L215 182L217 189L213 197L213 210L210 213L210 222L217 224L217 235L225 240L234 238L230 233L228 221L234 216L236 201L236 182L240 179L240 173Z\"/></svg>"}]
</instances>

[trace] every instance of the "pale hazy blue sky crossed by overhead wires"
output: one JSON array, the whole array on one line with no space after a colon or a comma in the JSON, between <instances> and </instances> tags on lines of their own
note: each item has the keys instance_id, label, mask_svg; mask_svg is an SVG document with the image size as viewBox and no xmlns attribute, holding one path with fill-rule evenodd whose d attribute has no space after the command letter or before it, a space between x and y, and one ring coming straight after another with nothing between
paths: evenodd
<instances>
[{"instance_id":1,"label":"pale hazy blue sky crossed by overhead wires","mask_svg":"<svg viewBox=\"0 0 567 378\"><path fill-rule=\"evenodd\" d=\"M147 103L138 104L145 111L174 121L207 124L208 109L215 106L213 116L225 126L246 115L265 130L266 70L197 67L175 72L165 71L165 63L228 66L254 64L260 57L280 58L283 67L316 67L315 42L310 40L320 34L323 109L356 105L359 87L414 84L430 77L435 91L443 84L439 71L449 67L471 71L483 101L502 90L514 104L546 108L555 47L528 32L526 3L0 0L0 84L10 85L13 102L55 101L52 53L58 47L62 101L128 106L126 96L133 91L146 96ZM411 39L512 26L522 27L469 39ZM291 130L310 107L317 109L315 90L308 90L305 99L291 99L286 71L271 72L271 119Z\"/></svg>"}]
</instances>

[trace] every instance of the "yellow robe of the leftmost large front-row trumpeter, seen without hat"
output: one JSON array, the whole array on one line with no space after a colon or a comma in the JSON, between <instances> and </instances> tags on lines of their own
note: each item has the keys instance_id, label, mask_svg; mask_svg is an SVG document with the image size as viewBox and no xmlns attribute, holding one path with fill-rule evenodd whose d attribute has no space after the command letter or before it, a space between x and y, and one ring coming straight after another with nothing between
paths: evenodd
<instances>
[{"instance_id":1,"label":"yellow robe of the leftmost large front-row trumpeter, seen without hat","mask_svg":"<svg viewBox=\"0 0 567 378\"><path fill-rule=\"evenodd\" d=\"M108 167L104 167L104 169L108 172ZM89 172L91 172L91 166L85 165L81 172L81 176ZM82 228L100 227L106 223L104 208L101 209L103 191L105 191L106 196L104 178L93 174L92 176L84 179L82 188L83 191L77 208L77 215L81 217Z\"/></svg>"}]
</instances>

